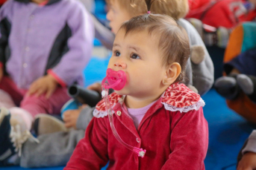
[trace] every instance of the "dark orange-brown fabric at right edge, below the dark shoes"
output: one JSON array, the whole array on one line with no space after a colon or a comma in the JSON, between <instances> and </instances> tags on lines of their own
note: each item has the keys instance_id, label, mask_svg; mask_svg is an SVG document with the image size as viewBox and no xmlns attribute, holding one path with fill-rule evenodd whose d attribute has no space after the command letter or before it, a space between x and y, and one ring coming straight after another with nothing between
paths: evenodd
<instances>
[{"instance_id":1,"label":"dark orange-brown fabric at right edge, below the dark shoes","mask_svg":"<svg viewBox=\"0 0 256 170\"><path fill-rule=\"evenodd\" d=\"M256 105L243 92L240 92L237 99L226 100L228 108L246 118L249 122L256 123Z\"/></svg>"}]
</instances>

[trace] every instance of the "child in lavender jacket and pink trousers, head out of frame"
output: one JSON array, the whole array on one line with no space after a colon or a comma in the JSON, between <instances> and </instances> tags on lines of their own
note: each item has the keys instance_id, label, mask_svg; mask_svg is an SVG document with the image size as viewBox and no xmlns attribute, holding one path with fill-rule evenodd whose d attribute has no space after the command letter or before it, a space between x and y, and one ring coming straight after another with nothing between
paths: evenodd
<instances>
[{"instance_id":1,"label":"child in lavender jacket and pink trousers, head out of frame","mask_svg":"<svg viewBox=\"0 0 256 170\"><path fill-rule=\"evenodd\" d=\"M0 88L19 106L9 105L10 120L1 115L1 125L12 127L0 129L0 136L12 136L0 139L1 155L9 146L21 149L37 114L60 113L69 99L66 86L82 84L94 31L90 15L73 0L10 0L0 20Z\"/></svg>"}]
</instances>

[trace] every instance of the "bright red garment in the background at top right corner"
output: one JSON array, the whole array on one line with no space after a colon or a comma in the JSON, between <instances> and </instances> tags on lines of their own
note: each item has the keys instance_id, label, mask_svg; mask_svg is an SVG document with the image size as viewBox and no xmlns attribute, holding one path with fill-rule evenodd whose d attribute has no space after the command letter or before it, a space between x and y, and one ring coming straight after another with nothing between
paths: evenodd
<instances>
[{"instance_id":1,"label":"bright red garment in the background at top right corner","mask_svg":"<svg viewBox=\"0 0 256 170\"><path fill-rule=\"evenodd\" d=\"M246 10L246 0L190 0L190 12L186 18L200 19L213 27L232 28L256 17L255 7Z\"/></svg>"}]
</instances>

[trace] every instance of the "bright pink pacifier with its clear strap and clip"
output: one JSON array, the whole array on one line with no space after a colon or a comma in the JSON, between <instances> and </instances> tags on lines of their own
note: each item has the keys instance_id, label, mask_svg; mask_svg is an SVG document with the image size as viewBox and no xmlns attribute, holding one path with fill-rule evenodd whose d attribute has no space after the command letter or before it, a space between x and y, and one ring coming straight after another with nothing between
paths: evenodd
<instances>
[{"instance_id":1,"label":"bright pink pacifier with its clear strap and clip","mask_svg":"<svg viewBox=\"0 0 256 170\"><path fill-rule=\"evenodd\" d=\"M108 99L108 89L113 88L113 90L119 91L125 87L126 83L126 74L124 71L113 71L111 68L107 68L107 76L102 80L102 97L104 97L104 101L106 103L108 119L110 121L110 127L113 131L113 135L116 137L116 140L119 141L123 146L134 151L138 154L139 157L144 157L146 154L146 150L143 148L136 148L133 146L129 146L127 143L122 141L119 134L117 134L116 128L113 125L113 111L110 105L110 100Z\"/></svg>"}]
</instances>

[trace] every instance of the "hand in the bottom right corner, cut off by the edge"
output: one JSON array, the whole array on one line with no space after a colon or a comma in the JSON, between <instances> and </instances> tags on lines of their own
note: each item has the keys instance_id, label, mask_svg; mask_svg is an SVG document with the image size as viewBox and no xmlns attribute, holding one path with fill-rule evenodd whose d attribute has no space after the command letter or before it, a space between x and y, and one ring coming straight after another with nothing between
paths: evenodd
<instances>
[{"instance_id":1,"label":"hand in the bottom right corner, cut off by the edge","mask_svg":"<svg viewBox=\"0 0 256 170\"><path fill-rule=\"evenodd\" d=\"M239 161L237 170L253 170L256 169L256 153L247 152Z\"/></svg>"}]
</instances>

